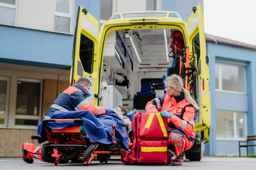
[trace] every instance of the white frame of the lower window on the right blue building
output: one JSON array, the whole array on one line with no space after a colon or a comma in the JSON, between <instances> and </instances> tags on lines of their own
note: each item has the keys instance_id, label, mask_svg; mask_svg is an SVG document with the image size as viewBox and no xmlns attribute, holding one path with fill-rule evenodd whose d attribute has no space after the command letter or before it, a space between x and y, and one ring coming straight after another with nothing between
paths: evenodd
<instances>
[{"instance_id":1,"label":"white frame of the lower window on the right blue building","mask_svg":"<svg viewBox=\"0 0 256 170\"><path fill-rule=\"evenodd\" d=\"M237 126L236 126L236 111L233 111L233 127L234 127L234 138L218 138L216 137L216 140L219 141L246 141L247 140L247 112L244 112L244 132L245 137L244 138L238 138L237 137ZM217 136L217 132L216 132Z\"/></svg>"}]
</instances>

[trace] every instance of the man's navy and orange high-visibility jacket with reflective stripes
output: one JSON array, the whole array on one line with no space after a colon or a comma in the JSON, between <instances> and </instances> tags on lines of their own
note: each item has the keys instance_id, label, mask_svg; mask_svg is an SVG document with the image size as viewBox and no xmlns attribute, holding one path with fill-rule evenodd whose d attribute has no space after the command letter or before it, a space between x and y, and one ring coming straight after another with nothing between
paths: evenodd
<instances>
[{"instance_id":1,"label":"man's navy and orange high-visibility jacket with reflective stripes","mask_svg":"<svg viewBox=\"0 0 256 170\"><path fill-rule=\"evenodd\" d=\"M73 84L56 98L48 113L44 115L44 119L49 119L55 111L89 110L95 116L105 114L105 108L95 106L86 100L86 98L89 96L91 96L89 92L86 91L81 85L78 83Z\"/></svg>"}]
</instances>

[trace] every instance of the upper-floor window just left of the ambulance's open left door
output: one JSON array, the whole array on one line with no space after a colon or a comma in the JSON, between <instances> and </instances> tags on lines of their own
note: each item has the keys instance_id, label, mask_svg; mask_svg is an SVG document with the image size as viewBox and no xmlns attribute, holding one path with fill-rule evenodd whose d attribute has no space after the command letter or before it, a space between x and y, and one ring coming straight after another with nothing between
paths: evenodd
<instances>
[{"instance_id":1,"label":"upper-floor window just left of the ambulance's open left door","mask_svg":"<svg viewBox=\"0 0 256 170\"><path fill-rule=\"evenodd\" d=\"M55 0L54 31L71 33L72 0Z\"/></svg>"}]
</instances>

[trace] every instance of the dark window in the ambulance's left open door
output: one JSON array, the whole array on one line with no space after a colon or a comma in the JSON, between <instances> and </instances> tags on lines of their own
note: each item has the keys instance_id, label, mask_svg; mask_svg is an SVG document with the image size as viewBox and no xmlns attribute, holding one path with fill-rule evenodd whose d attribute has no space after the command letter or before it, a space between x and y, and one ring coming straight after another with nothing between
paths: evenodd
<instances>
[{"instance_id":1,"label":"dark window in the ambulance's left open door","mask_svg":"<svg viewBox=\"0 0 256 170\"><path fill-rule=\"evenodd\" d=\"M85 72L93 73L94 42L81 34L79 56Z\"/></svg>"}]
</instances>

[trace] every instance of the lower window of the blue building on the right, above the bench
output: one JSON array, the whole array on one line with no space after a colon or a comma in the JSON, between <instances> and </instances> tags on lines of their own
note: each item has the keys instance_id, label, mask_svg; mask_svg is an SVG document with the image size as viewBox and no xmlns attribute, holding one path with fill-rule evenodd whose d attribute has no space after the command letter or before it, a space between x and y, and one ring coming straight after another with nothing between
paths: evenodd
<instances>
[{"instance_id":1,"label":"lower window of the blue building on the right, above the bench","mask_svg":"<svg viewBox=\"0 0 256 170\"><path fill-rule=\"evenodd\" d=\"M216 110L217 139L241 139L247 136L245 112Z\"/></svg>"}]
</instances>

